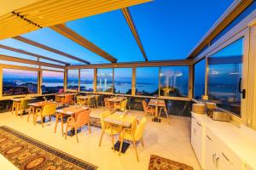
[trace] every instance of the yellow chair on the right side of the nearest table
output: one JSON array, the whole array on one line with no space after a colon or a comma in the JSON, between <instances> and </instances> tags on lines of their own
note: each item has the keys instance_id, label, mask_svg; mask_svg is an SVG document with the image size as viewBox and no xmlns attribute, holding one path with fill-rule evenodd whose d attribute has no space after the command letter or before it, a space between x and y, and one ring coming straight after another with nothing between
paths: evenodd
<instances>
[{"instance_id":1,"label":"yellow chair on the right side of the nearest table","mask_svg":"<svg viewBox=\"0 0 256 170\"><path fill-rule=\"evenodd\" d=\"M119 139L121 141L121 144L120 144L120 147L119 147L119 155L120 155L121 149L123 147L123 142L124 142L124 139L125 139L125 140L132 141L133 147L135 149L136 156L137 156L136 142L141 141L142 144L143 144L143 147L144 147L143 133L144 133L146 122L147 122L147 118L143 117L142 120L139 122L139 125L137 126L136 130L132 131L131 128L124 128L123 129L123 132L120 134L120 137L119 137ZM137 161L139 161L138 156L137 156Z\"/></svg>"}]
</instances>

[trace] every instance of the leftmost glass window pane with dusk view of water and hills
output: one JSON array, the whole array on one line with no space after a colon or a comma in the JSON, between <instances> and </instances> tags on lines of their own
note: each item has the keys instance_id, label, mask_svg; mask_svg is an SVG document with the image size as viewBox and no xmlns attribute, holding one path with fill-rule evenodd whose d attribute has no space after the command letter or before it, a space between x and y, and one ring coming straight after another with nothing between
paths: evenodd
<instances>
[{"instance_id":1,"label":"leftmost glass window pane with dusk view of water and hills","mask_svg":"<svg viewBox=\"0 0 256 170\"><path fill-rule=\"evenodd\" d=\"M38 93L38 71L3 68L3 96Z\"/></svg>"}]
</instances>

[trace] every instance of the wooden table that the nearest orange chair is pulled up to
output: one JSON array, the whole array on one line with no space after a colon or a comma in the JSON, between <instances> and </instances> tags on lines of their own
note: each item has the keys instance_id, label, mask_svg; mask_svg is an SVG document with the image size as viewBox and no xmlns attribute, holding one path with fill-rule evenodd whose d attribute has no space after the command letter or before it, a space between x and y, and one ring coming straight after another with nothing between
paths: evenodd
<instances>
[{"instance_id":1,"label":"wooden table that the nearest orange chair is pulled up to","mask_svg":"<svg viewBox=\"0 0 256 170\"><path fill-rule=\"evenodd\" d=\"M56 122L55 122L55 133L56 133L56 128L57 128L57 123L59 122L59 118L61 119L61 131L62 131L62 135L64 135L63 133L63 115L66 116L75 116L76 113L80 113L80 112L84 112L84 111L88 111L89 108L88 107L79 107L78 105L72 105L72 106L68 106L65 107L63 109L60 110L56 110ZM78 133L80 133L80 131L78 131ZM72 129L71 131L69 131L67 133L68 136L73 136L74 133L74 129Z\"/></svg>"}]
</instances>

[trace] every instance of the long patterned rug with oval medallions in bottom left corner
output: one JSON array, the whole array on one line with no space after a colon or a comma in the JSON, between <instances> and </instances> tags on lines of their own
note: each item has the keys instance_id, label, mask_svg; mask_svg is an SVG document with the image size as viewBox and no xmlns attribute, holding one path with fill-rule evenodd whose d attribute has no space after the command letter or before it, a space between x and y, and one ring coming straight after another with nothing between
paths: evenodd
<instances>
[{"instance_id":1,"label":"long patterned rug with oval medallions in bottom left corner","mask_svg":"<svg viewBox=\"0 0 256 170\"><path fill-rule=\"evenodd\" d=\"M6 126L0 127L0 153L22 170L96 170L97 168Z\"/></svg>"}]
</instances>

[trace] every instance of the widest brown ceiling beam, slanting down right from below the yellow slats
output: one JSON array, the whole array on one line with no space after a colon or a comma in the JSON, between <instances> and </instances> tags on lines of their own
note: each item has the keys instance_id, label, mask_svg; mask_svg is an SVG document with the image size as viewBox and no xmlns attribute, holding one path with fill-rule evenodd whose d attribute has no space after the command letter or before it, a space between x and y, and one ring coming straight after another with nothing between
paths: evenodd
<instances>
[{"instance_id":1,"label":"widest brown ceiling beam, slanting down right from below the yellow slats","mask_svg":"<svg viewBox=\"0 0 256 170\"><path fill-rule=\"evenodd\" d=\"M105 52L102 48L97 47L94 43L90 42L89 40L85 39L84 37L80 36L75 31L67 28L67 26L60 24L56 26L51 26L51 29L60 33L62 36L65 36L72 40L73 42L79 43L79 45L83 46L84 48L89 49L95 54L102 56L104 59L112 63L116 63L117 59L115 59L112 55Z\"/></svg>"}]
</instances>

